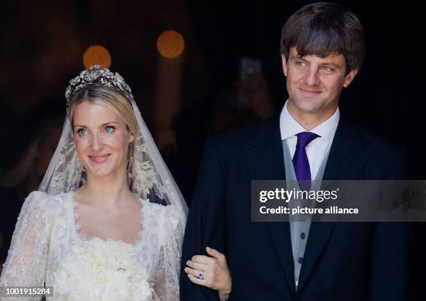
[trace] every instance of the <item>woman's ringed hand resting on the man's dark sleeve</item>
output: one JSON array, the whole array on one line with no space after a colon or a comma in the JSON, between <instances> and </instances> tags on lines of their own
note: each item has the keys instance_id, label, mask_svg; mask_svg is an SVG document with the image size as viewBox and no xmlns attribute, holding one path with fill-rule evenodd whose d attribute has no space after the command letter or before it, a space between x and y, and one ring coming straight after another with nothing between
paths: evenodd
<instances>
[{"instance_id":1,"label":"woman's ringed hand resting on the man's dark sleeve","mask_svg":"<svg viewBox=\"0 0 426 301\"><path fill-rule=\"evenodd\" d=\"M225 255L211 247L206 247L205 250L211 257L193 256L187 261L184 271L191 282L218 291L221 298L226 297L232 289L232 278ZM202 271L203 279L199 278L200 271Z\"/></svg>"}]
</instances>

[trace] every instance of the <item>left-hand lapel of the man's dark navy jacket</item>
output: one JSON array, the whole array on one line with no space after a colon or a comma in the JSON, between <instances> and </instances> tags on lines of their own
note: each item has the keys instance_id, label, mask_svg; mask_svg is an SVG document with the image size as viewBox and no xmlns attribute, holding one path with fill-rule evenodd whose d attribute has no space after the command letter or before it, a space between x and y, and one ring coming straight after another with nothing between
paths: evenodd
<instances>
[{"instance_id":1,"label":"left-hand lapel of the man's dark navy jacket","mask_svg":"<svg viewBox=\"0 0 426 301\"><path fill-rule=\"evenodd\" d=\"M250 168L251 179L285 180L279 114L262 124L255 135L243 144L243 149ZM274 242L290 290L295 295L294 266L288 222L266 222L265 225Z\"/></svg>"}]
</instances>

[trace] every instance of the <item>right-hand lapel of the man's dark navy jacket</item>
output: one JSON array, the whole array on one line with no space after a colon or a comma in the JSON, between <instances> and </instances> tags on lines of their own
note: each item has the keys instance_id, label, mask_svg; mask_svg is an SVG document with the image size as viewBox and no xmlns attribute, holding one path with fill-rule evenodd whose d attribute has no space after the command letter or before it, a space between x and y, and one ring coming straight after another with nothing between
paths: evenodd
<instances>
[{"instance_id":1,"label":"right-hand lapel of the man's dark navy jacket","mask_svg":"<svg viewBox=\"0 0 426 301\"><path fill-rule=\"evenodd\" d=\"M368 162L370 149L364 147L354 125L340 120L331 145L324 180L358 180ZM324 251L336 222L312 222L299 276L299 292Z\"/></svg>"}]
</instances>

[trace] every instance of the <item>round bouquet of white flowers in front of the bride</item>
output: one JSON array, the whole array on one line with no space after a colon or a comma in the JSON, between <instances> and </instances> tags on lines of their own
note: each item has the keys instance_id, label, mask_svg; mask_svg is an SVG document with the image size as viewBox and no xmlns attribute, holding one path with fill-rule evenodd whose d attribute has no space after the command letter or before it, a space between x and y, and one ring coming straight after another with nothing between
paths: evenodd
<instances>
[{"instance_id":1,"label":"round bouquet of white flowers in front of the bride","mask_svg":"<svg viewBox=\"0 0 426 301\"><path fill-rule=\"evenodd\" d=\"M74 245L54 275L54 300L151 301L132 245L92 238Z\"/></svg>"}]
</instances>

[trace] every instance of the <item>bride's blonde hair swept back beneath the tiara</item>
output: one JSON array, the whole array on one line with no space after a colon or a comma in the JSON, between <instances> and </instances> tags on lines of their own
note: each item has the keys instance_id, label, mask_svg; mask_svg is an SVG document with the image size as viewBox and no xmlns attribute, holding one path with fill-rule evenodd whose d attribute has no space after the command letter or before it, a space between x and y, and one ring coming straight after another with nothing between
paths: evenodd
<instances>
[{"instance_id":1,"label":"bride's blonde hair swept back beneath the tiara","mask_svg":"<svg viewBox=\"0 0 426 301\"><path fill-rule=\"evenodd\" d=\"M125 122L127 130L134 134L136 138L138 123L134 115L132 104L120 92L105 86L90 85L88 88L81 90L72 97L68 108L68 117L70 118L72 128L74 127L73 118L75 108L84 101L109 108Z\"/></svg>"}]
</instances>

